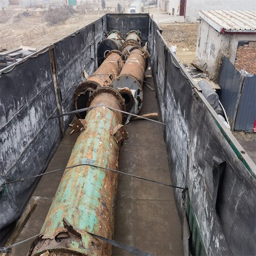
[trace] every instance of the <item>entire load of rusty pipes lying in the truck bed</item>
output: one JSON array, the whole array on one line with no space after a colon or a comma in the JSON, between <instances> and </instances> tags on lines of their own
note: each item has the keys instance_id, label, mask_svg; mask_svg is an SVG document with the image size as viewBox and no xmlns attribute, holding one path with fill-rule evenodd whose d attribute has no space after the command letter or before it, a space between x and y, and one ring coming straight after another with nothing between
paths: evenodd
<instances>
[{"instance_id":1,"label":"entire load of rusty pipes lying in the truck bed","mask_svg":"<svg viewBox=\"0 0 256 256\"><path fill-rule=\"evenodd\" d=\"M140 32L123 38L112 31L98 45L98 69L74 93L80 131L67 168L29 255L111 255L119 150L128 138L123 124L143 102L142 84L149 57Z\"/></svg>"}]
</instances>

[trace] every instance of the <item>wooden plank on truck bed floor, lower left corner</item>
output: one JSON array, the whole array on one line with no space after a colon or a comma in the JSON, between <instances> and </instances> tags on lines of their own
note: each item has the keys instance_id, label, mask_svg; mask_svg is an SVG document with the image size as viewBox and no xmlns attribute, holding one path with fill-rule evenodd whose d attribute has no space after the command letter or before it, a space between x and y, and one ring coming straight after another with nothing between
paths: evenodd
<instances>
[{"instance_id":1,"label":"wooden plank on truck bed floor, lower left corner","mask_svg":"<svg viewBox=\"0 0 256 256\"><path fill-rule=\"evenodd\" d=\"M17 240L18 236L20 235L23 227L26 225L26 223L28 222L32 213L34 212L34 210L37 206L37 202L38 202L37 198L32 198L32 200L28 203L23 214L21 215L21 218L15 224L13 232L4 246L5 248L7 248L8 246L13 245L15 243L15 241ZM7 255L8 255L8 253L0 252L0 256L7 256Z\"/></svg>"}]
</instances>

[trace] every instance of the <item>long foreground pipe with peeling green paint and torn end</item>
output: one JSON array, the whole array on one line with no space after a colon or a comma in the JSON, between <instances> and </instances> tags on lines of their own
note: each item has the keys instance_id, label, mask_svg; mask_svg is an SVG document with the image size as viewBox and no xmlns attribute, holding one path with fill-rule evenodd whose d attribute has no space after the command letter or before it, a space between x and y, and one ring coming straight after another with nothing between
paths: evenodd
<instances>
[{"instance_id":1,"label":"long foreground pipe with peeling green paint and torn end","mask_svg":"<svg viewBox=\"0 0 256 256\"><path fill-rule=\"evenodd\" d=\"M122 97L112 88L97 90L90 106L104 104L123 109ZM118 169L122 114L96 107L88 111L83 124L84 130L77 138L67 166L90 163ZM29 256L47 251L54 256L111 255L109 244L87 232L112 238L117 177L117 173L88 165L66 169L41 229L42 235L33 242Z\"/></svg>"}]
</instances>

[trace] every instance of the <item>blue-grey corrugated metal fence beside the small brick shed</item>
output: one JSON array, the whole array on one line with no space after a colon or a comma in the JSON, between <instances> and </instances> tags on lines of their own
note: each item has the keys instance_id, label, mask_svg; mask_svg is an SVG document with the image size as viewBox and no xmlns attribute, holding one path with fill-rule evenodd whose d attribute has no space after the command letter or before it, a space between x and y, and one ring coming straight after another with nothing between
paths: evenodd
<instances>
[{"instance_id":1,"label":"blue-grey corrugated metal fence beside the small brick shed","mask_svg":"<svg viewBox=\"0 0 256 256\"><path fill-rule=\"evenodd\" d=\"M256 75L243 76L224 56L220 100L231 129L253 132L256 120Z\"/></svg>"}]
</instances>

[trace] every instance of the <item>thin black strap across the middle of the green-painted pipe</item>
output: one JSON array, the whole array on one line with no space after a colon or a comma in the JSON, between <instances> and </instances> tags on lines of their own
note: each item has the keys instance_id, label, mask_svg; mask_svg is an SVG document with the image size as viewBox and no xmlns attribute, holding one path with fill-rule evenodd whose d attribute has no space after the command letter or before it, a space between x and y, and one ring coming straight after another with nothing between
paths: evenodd
<instances>
[{"instance_id":1,"label":"thin black strap across the middle of the green-painted pipe","mask_svg":"<svg viewBox=\"0 0 256 256\"><path fill-rule=\"evenodd\" d=\"M173 185L170 185L170 184L166 184L166 183L163 183L163 182L160 182L160 181L154 181L154 180L143 178L143 177L136 176L136 175L133 175L133 174L125 173L125 172L122 172L122 171L118 171L118 170L114 170L114 169L109 169L109 168L102 167L102 166L97 166L97 165L94 165L94 164L91 164L91 163L75 164L75 165L72 165L72 166L67 166L65 168L60 168L60 169L57 169L57 170L41 173L41 174L34 175L34 176L31 176L31 177L26 177L26 178L21 178L21 179L14 180L14 181L5 182L2 185L11 184L11 183L18 182L18 181L25 181L27 179L37 178L37 177L40 177L40 176L43 176L43 175L46 175L46 174L54 173L54 172L57 172L57 171L62 171L62 170L65 170L65 169L71 169L71 168L78 167L78 166L92 166L92 167L104 169L104 170L107 170L107 171L112 171L112 172L117 172L117 173L120 173L120 174L125 174L127 176L134 177L134 178L137 178L137 179L154 182L154 183L157 183L157 184L160 184L160 185L163 185L163 186L167 186L167 187L172 187L172 188L175 188L175 189L182 189L182 190L185 189L185 188L173 186Z\"/></svg>"}]
</instances>

